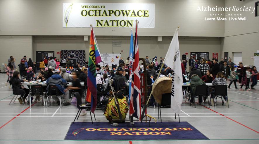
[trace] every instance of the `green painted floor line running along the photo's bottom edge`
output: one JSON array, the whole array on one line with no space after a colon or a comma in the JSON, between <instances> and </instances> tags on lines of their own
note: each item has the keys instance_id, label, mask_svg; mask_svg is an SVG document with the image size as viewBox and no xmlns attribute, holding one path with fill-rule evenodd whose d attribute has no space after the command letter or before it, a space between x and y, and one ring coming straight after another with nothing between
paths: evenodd
<instances>
[{"instance_id":1,"label":"green painted floor line running along the photo's bottom edge","mask_svg":"<svg viewBox=\"0 0 259 144\"><path fill-rule=\"evenodd\" d=\"M259 140L259 138L251 139L180 139L180 140L9 140L9 139L0 139L0 141L240 141L240 140Z\"/></svg>"}]
</instances>

